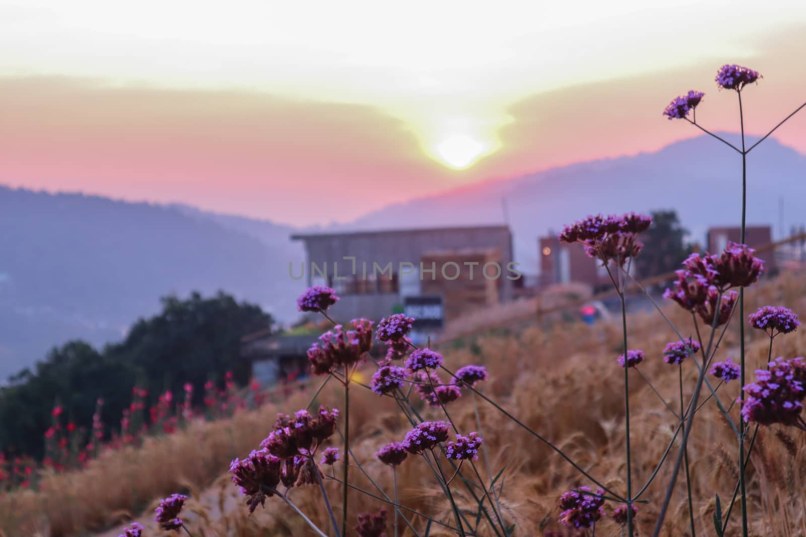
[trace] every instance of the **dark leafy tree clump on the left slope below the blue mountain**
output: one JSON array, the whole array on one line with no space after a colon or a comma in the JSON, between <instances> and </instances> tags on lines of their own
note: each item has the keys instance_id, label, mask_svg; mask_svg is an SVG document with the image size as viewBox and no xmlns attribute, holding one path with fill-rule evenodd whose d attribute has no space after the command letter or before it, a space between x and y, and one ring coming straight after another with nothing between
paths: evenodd
<instances>
[{"instance_id":1,"label":"dark leafy tree clump on the left slope below the blue mountain","mask_svg":"<svg viewBox=\"0 0 806 537\"><path fill-rule=\"evenodd\" d=\"M55 404L65 421L89 429L98 398L104 399L104 423L117 424L135 384L156 398L168 389L181 394L191 382L198 404L210 378L220 380L232 371L235 382L248 381L240 339L271 328L271 316L223 292L208 299L198 293L186 300L168 296L161 302L162 312L138 320L122 342L98 352L85 341L69 341L32 370L9 378L0 387L0 452L43 456Z\"/></svg>"}]
</instances>

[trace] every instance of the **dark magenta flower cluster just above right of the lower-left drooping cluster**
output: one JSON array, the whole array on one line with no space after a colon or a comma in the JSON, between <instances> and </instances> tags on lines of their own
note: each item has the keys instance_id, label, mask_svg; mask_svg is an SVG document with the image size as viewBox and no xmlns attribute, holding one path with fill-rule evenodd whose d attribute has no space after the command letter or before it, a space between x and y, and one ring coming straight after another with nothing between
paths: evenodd
<instances>
[{"instance_id":1,"label":"dark magenta flower cluster just above right of the lower-left drooping cluster","mask_svg":"<svg viewBox=\"0 0 806 537\"><path fill-rule=\"evenodd\" d=\"M293 416L278 415L274 430L260 443L261 448L281 459L289 456L307 456L336 431L337 409L319 407L316 417L306 410Z\"/></svg>"}]
</instances>

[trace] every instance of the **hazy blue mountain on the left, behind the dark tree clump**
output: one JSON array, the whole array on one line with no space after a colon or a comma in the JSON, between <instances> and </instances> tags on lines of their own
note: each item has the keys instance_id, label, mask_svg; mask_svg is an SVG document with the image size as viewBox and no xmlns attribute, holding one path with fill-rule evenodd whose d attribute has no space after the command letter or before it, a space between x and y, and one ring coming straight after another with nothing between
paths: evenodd
<instances>
[{"instance_id":1,"label":"hazy blue mountain on the left, behind the dark tree clump","mask_svg":"<svg viewBox=\"0 0 806 537\"><path fill-rule=\"evenodd\" d=\"M301 259L289 229L261 241L226 220L0 187L0 378L69 339L120 339L167 294L220 289L291 320L302 283L288 275Z\"/></svg>"}]
</instances>

